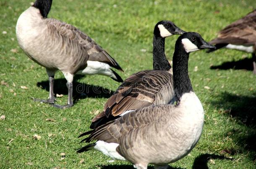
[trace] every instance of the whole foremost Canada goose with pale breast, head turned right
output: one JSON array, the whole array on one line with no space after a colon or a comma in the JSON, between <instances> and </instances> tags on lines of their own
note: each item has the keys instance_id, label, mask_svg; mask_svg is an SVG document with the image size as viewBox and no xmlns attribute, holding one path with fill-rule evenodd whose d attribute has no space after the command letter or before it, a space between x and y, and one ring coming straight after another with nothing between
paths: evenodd
<instances>
[{"instance_id":1,"label":"whole foremost Canada goose with pale breast, head turned right","mask_svg":"<svg viewBox=\"0 0 256 169\"><path fill-rule=\"evenodd\" d=\"M176 105L140 108L81 134L90 134L86 142L97 142L77 152L95 149L112 159L130 161L137 169L148 164L167 168L187 155L199 141L204 124L204 109L188 76L188 58L189 53L206 48L215 47L198 33L180 35L173 54Z\"/></svg>"}]
</instances>

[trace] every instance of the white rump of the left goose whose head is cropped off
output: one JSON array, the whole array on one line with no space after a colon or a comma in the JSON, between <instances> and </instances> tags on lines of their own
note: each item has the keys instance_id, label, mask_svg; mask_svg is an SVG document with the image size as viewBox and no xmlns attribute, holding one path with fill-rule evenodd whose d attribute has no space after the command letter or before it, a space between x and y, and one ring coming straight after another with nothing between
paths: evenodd
<instances>
[{"instance_id":1,"label":"white rump of the left goose whose head is cropped off","mask_svg":"<svg viewBox=\"0 0 256 169\"><path fill-rule=\"evenodd\" d=\"M76 74L85 75L104 75L111 78L115 78L115 74L111 71L110 66L107 63L102 63L99 61L87 61L87 66L84 70L78 71Z\"/></svg>"}]
</instances>

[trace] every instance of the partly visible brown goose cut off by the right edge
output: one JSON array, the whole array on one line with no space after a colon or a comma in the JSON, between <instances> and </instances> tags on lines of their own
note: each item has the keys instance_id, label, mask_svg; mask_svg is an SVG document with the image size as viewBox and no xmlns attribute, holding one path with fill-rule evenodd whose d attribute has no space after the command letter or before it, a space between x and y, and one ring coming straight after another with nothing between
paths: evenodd
<instances>
[{"instance_id":1,"label":"partly visible brown goose cut off by the right edge","mask_svg":"<svg viewBox=\"0 0 256 169\"><path fill-rule=\"evenodd\" d=\"M256 10L222 29L209 43L215 44L216 49L207 52L228 48L252 53L253 73L256 74Z\"/></svg>"}]
</instances>

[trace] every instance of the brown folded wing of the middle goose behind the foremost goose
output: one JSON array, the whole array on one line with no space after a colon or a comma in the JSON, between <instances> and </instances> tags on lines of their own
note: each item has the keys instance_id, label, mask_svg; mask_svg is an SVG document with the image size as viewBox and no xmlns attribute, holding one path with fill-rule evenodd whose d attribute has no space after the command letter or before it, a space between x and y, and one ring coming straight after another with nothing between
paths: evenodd
<instances>
[{"instance_id":1,"label":"brown folded wing of the middle goose behind the foremost goose","mask_svg":"<svg viewBox=\"0 0 256 169\"><path fill-rule=\"evenodd\" d=\"M103 111L105 116L102 112L92 122L109 116L119 116L128 110L151 106L157 96L160 96L158 94L162 92L162 88L167 88L167 84L172 86L169 83L172 83L172 75L167 71L151 70L133 74L107 100Z\"/></svg>"}]
</instances>

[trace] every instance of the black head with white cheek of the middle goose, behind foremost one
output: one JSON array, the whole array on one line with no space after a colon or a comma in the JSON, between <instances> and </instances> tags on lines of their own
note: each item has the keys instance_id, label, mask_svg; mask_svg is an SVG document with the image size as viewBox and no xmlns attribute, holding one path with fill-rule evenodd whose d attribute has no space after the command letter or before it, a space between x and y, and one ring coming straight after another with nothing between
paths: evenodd
<instances>
[{"instance_id":1,"label":"black head with white cheek of the middle goose, behind foremost one","mask_svg":"<svg viewBox=\"0 0 256 169\"><path fill-rule=\"evenodd\" d=\"M183 33L185 33L184 30L178 28L174 23L169 20L161 20L154 28L154 35L161 36L162 38L166 38L174 34Z\"/></svg>"}]
</instances>

